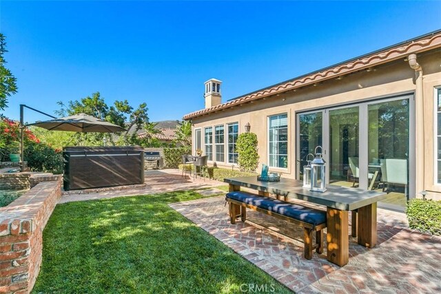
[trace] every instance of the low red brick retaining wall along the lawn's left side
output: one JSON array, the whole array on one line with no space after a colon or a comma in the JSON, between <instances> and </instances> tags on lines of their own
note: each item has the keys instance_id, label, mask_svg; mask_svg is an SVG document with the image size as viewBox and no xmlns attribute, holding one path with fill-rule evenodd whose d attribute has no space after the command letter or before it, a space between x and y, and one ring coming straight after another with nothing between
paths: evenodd
<instances>
[{"instance_id":1,"label":"low red brick retaining wall along the lawn's left side","mask_svg":"<svg viewBox=\"0 0 441 294\"><path fill-rule=\"evenodd\" d=\"M61 178L40 182L0 209L0 293L29 293L41 265L43 229L61 197Z\"/></svg>"}]
</instances>

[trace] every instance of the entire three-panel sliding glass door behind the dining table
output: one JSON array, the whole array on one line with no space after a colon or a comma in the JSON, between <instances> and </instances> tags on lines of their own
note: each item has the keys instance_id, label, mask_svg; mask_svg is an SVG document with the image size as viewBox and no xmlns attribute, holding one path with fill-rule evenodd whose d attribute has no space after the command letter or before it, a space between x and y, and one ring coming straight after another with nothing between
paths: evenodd
<instances>
[{"instance_id":1,"label":"entire three-panel sliding glass door behind the dining table","mask_svg":"<svg viewBox=\"0 0 441 294\"><path fill-rule=\"evenodd\" d=\"M413 103L412 96L402 96L298 114L298 179L307 154L320 145L330 185L385 191L383 206L402 209L415 195L409 180Z\"/></svg>"}]
</instances>

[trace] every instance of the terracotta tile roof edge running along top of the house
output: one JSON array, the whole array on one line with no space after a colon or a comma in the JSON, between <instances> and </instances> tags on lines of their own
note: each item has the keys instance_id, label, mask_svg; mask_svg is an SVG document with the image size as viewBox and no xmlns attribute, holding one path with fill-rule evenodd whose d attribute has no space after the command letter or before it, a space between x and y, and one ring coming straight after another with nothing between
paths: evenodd
<instances>
[{"instance_id":1,"label":"terracotta tile roof edge running along top of the house","mask_svg":"<svg viewBox=\"0 0 441 294\"><path fill-rule=\"evenodd\" d=\"M287 92L289 90L294 90L298 87L313 85L314 83L318 83L320 81L329 80L331 78L338 78L338 76L344 76L345 74L364 70L368 67L373 67L375 65L380 65L397 59L406 58L409 54L412 53L423 52L440 47L441 30L438 30L430 34L426 34L424 36L420 36L409 41L404 41L397 45L393 45L388 48L384 48L382 50L378 50L376 52L357 57L356 59L344 61L342 63L338 63L337 65L332 65L330 67L326 67L325 69L311 72L310 74L305 74L304 76L299 76L298 78L294 78L292 80L285 81L277 85L272 85L256 92L245 94L244 96L229 100L223 104L206 109L201 109L197 112L192 112L191 114L186 114L183 119L189 120L197 116L203 116L212 112L218 112L220 110L228 109L230 107L250 101L255 101L260 98L282 92Z\"/></svg>"}]
</instances>

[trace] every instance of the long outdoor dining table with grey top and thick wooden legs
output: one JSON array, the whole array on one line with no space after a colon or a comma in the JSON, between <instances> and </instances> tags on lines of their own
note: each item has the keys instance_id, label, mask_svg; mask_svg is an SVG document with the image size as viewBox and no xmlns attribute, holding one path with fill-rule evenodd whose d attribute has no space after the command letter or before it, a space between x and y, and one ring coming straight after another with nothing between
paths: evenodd
<instances>
[{"instance_id":1,"label":"long outdoor dining table with grey top and thick wooden legs","mask_svg":"<svg viewBox=\"0 0 441 294\"><path fill-rule=\"evenodd\" d=\"M240 187L257 190L260 196L283 196L327 207L327 260L339 266L349 262L349 211L358 211L356 231L358 244L372 248L377 243L377 202L386 193L358 188L328 185L327 191L315 192L303 188L303 182L280 178L280 182L261 182L256 176L225 178L229 191L240 191ZM353 212L353 216L357 213Z\"/></svg>"}]
</instances>

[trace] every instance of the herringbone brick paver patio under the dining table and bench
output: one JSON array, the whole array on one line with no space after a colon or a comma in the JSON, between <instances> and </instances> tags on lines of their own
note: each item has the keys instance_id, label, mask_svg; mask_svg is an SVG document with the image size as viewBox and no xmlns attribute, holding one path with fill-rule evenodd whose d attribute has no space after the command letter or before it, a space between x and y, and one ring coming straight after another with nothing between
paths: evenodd
<instances>
[{"instance_id":1,"label":"herringbone brick paver patio under the dining table and bench","mask_svg":"<svg viewBox=\"0 0 441 294\"><path fill-rule=\"evenodd\" d=\"M280 231L230 224L224 204L219 196L170 207L296 293L441 293L441 238L408 229L403 213L378 209L377 246L349 237L349 264L340 267L326 260L326 251L305 260L298 227L250 211L250 220Z\"/></svg>"}]
</instances>

